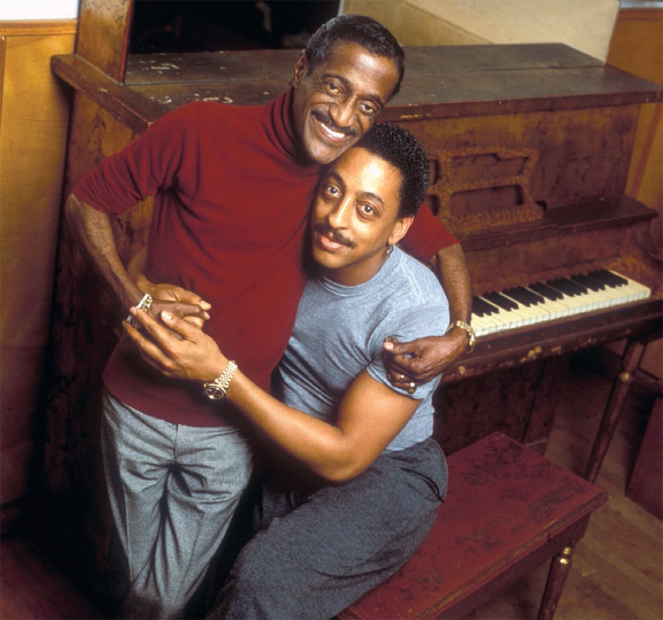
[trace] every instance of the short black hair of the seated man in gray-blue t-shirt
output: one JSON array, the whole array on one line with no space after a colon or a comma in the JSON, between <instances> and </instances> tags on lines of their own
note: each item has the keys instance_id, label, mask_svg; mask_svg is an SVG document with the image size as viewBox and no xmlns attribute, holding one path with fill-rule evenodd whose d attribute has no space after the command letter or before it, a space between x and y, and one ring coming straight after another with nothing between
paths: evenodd
<instances>
[{"instance_id":1,"label":"short black hair of the seated man in gray-blue t-shirt","mask_svg":"<svg viewBox=\"0 0 663 620\"><path fill-rule=\"evenodd\" d=\"M355 147L366 149L400 170L403 179L398 217L416 215L430 182L428 158L419 141L400 125L375 123Z\"/></svg>"}]
</instances>

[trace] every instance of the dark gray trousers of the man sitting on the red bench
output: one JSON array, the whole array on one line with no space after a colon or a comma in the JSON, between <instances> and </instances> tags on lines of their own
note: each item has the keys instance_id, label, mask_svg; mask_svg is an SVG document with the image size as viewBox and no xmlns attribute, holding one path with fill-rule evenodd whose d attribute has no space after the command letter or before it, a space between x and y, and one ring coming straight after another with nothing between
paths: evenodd
<instances>
[{"instance_id":1,"label":"dark gray trousers of the man sitting on the red bench","mask_svg":"<svg viewBox=\"0 0 663 620\"><path fill-rule=\"evenodd\" d=\"M446 487L444 455L432 439L305 498L263 485L264 529L242 550L209 617L333 617L407 561Z\"/></svg>"}]
</instances>

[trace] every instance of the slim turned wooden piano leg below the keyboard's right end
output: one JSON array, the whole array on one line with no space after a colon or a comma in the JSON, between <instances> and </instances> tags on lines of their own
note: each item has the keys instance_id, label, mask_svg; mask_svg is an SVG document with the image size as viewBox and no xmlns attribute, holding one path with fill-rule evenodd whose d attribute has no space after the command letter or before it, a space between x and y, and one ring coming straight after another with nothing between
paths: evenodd
<instances>
[{"instance_id":1,"label":"slim turned wooden piano leg below the keyboard's right end","mask_svg":"<svg viewBox=\"0 0 663 620\"><path fill-rule=\"evenodd\" d=\"M645 351L645 346L646 341L643 342L639 340L629 340L626 345L626 350L622 356L621 372L612 385L610 398L608 399L608 404L606 405L605 411L603 412L601 426L599 427L599 432L596 436L596 440L594 441L592 454L589 457L587 469L585 470L585 479L589 482L594 482L596 480L596 476L601 469L603 457L608 451L608 447L612 441L612 436L614 435L615 428L617 427L617 422L619 422L619 417L624 406L624 401L626 400L626 397L628 396L629 390L631 388L631 383L633 382L633 373L640 366L642 355Z\"/></svg>"}]
</instances>

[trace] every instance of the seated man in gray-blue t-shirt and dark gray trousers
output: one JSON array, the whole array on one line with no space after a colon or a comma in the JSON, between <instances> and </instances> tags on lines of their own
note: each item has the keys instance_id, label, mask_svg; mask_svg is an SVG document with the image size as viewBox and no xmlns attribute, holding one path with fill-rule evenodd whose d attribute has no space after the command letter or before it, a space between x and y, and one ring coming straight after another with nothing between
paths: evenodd
<instances>
[{"instance_id":1,"label":"seated man in gray-blue t-shirt and dark gray trousers","mask_svg":"<svg viewBox=\"0 0 663 620\"><path fill-rule=\"evenodd\" d=\"M312 274L276 377L280 400L195 327L162 313L178 340L132 309L152 339L125 329L153 364L230 399L314 479L303 486L263 465L258 533L211 617L331 618L398 570L430 530L447 484L430 438L438 381L399 390L382 360L389 337L447 328L437 280L394 247L427 186L423 149L386 124L323 174L311 214Z\"/></svg>"}]
</instances>

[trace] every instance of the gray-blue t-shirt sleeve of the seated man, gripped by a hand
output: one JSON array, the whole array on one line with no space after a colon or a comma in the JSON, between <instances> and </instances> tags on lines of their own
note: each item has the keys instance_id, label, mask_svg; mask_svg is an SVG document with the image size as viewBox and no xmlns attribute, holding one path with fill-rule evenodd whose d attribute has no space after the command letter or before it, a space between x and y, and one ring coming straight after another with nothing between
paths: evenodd
<instances>
[{"instance_id":1,"label":"gray-blue t-shirt sleeve of the seated man, gripped by a hand","mask_svg":"<svg viewBox=\"0 0 663 620\"><path fill-rule=\"evenodd\" d=\"M408 394L406 390L394 387L387 378L387 370L382 354L382 342L384 337L393 336L401 342L423 338L425 336L441 336L449 325L449 308L446 303L427 303L412 307L407 311L399 313L392 321L390 328L383 328L380 337L372 343L373 356L370 364L366 367L368 374L390 387L399 394L404 394L415 399L423 399L431 394L439 385L440 377L417 386L414 394ZM386 332L389 333L386 333Z\"/></svg>"}]
</instances>

